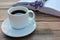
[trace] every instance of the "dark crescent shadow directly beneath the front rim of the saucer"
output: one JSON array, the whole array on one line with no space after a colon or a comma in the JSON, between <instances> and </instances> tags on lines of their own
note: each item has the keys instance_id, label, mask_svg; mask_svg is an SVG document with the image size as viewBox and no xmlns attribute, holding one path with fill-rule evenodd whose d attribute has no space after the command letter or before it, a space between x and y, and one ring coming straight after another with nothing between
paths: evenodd
<instances>
[{"instance_id":1,"label":"dark crescent shadow directly beneath the front rim of the saucer","mask_svg":"<svg viewBox=\"0 0 60 40\"><path fill-rule=\"evenodd\" d=\"M9 37L5 34L3 34L3 36L4 36L5 40L30 40L34 35L34 32L31 33L30 35L27 35L27 36L24 36L24 37Z\"/></svg>"}]
</instances>

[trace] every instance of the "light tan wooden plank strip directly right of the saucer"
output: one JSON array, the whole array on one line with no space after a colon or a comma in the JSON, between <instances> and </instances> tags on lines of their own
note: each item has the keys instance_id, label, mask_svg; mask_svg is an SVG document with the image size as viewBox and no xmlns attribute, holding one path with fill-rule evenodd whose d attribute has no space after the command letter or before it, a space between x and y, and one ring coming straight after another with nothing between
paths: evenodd
<instances>
[{"instance_id":1,"label":"light tan wooden plank strip directly right of the saucer","mask_svg":"<svg viewBox=\"0 0 60 40\"><path fill-rule=\"evenodd\" d=\"M37 30L41 29L60 31L60 22L37 22Z\"/></svg>"}]
</instances>

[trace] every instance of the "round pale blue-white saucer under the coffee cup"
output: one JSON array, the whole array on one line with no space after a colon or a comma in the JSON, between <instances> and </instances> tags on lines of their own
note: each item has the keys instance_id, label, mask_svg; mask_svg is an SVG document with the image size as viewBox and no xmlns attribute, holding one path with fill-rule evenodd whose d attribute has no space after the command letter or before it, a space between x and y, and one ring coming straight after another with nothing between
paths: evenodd
<instances>
[{"instance_id":1,"label":"round pale blue-white saucer under the coffee cup","mask_svg":"<svg viewBox=\"0 0 60 40\"><path fill-rule=\"evenodd\" d=\"M1 29L2 29L2 32L4 34L6 34L7 36L10 36L10 37L24 37L24 36L27 36L27 35L31 34L36 29L35 21L30 20L29 22L30 23L28 25L26 25L25 28L17 30L17 29L13 29L11 27L10 21L7 18L2 23Z\"/></svg>"}]
</instances>

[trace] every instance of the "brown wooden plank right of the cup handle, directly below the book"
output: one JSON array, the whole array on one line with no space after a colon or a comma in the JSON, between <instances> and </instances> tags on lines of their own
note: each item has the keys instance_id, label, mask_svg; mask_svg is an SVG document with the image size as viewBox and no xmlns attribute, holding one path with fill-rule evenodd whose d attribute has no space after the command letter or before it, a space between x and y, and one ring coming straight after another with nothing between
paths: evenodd
<instances>
[{"instance_id":1,"label":"brown wooden plank right of the cup handle, directly below the book","mask_svg":"<svg viewBox=\"0 0 60 40\"><path fill-rule=\"evenodd\" d=\"M40 22L59 22L60 21L60 17L56 17L53 15L48 15L45 13L41 13L41 12L35 12L36 15L36 21L40 21Z\"/></svg>"}]
</instances>

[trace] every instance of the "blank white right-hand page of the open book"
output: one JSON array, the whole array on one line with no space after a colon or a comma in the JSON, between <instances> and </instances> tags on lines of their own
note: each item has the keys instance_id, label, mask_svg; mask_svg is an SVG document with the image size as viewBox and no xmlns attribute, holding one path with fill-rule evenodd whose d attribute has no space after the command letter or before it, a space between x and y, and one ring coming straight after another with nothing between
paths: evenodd
<instances>
[{"instance_id":1,"label":"blank white right-hand page of the open book","mask_svg":"<svg viewBox=\"0 0 60 40\"><path fill-rule=\"evenodd\" d=\"M45 3L44 7L48 7L60 11L60 0L48 0Z\"/></svg>"}]
</instances>

